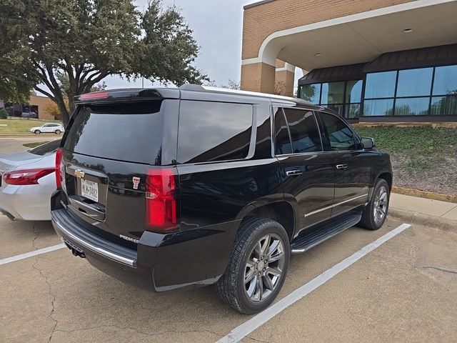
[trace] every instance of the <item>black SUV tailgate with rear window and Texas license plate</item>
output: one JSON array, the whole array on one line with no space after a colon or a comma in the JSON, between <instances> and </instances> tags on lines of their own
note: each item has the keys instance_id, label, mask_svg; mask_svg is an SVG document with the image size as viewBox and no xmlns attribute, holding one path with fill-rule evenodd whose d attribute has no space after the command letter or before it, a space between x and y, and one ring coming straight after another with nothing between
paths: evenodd
<instances>
[{"instance_id":1,"label":"black SUV tailgate with rear window and Texas license plate","mask_svg":"<svg viewBox=\"0 0 457 343\"><path fill-rule=\"evenodd\" d=\"M174 104L171 104L174 103ZM160 165L163 111L178 101L86 104L64 137L69 209L79 222L139 239L150 165Z\"/></svg>"}]
</instances>

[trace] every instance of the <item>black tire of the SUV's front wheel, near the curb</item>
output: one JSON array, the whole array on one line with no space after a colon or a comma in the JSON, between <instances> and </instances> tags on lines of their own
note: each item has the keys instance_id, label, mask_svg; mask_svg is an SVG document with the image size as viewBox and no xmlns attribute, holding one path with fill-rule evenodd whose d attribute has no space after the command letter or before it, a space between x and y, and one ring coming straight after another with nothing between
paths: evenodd
<instances>
[{"instance_id":1,"label":"black tire of the SUV's front wheel, near the curb","mask_svg":"<svg viewBox=\"0 0 457 343\"><path fill-rule=\"evenodd\" d=\"M379 207L381 204L379 197L381 192L386 193L386 204L383 205L384 214L382 218L376 218L375 208ZM391 197L390 187L385 179L377 179L375 187L373 189L373 195L371 196L370 202L366 205L365 209L362 213L362 219L358 223L359 227L363 227L364 229L368 230L377 230L383 226L384 222L386 221L387 212L388 212L388 202ZM378 211L378 216L380 216L380 212Z\"/></svg>"}]
</instances>

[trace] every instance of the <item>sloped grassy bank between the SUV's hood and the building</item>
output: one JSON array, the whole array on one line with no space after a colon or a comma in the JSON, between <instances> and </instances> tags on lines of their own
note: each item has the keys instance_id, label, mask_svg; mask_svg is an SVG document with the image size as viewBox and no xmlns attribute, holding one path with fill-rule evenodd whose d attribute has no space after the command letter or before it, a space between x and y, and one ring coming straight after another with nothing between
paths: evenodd
<instances>
[{"instance_id":1,"label":"sloped grassy bank between the SUV's hood and the building","mask_svg":"<svg viewBox=\"0 0 457 343\"><path fill-rule=\"evenodd\" d=\"M457 129L377 126L356 131L391 154L395 186L457 195Z\"/></svg>"}]
</instances>

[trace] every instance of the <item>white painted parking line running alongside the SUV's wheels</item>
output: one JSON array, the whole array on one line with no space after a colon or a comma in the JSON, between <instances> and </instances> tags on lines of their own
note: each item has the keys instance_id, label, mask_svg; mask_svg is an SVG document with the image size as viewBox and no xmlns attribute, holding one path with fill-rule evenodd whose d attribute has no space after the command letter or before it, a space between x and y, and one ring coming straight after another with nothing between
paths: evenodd
<instances>
[{"instance_id":1,"label":"white painted parking line running alongside the SUV's wheels","mask_svg":"<svg viewBox=\"0 0 457 343\"><path fill-rule=\"evenodd\" d=\"M247 322L244 322L240 326L233 329L231 332L229 332L229 334L226 335L226 337L219 339L218 343L239 342L241 339L246 337L255 329L261 327L261 325L265 324L266 322L268 322L268 320L276 316L276 314L283 311L283 309L286 309L287 307L291 306L291 304L293 304L294 302L297 302L301 298L305 297L307 294L313 292L314 289L317 289L322 284L325 284L329 279L334 277L336 274L342 272L347 267L350 267L352 264L354 264L359 259L364 257L366 254L372 252L381 244L386 243L389 239L395 237L397 234L400 234L404 230L408 229L408 227L411 227L411 224L401 224L396 229L393 229L391 232L388 232L387 234L383 235L383 237L376 239L376 241L374 241L373 243L366 245L358 252L352 254L347 259L343 259L343 261L339 262L338 264L335 264L330 269L327 269L325 272L318 275L310 282L303 284L303 286L296 289L291 294L288 294L286 297L283 297L283 299L276 302L276 304L271 305L271 307L268 307L268 309L264 310L259 314L256 314L256 316L252 317Z\"/></svg>"}]
</instances>

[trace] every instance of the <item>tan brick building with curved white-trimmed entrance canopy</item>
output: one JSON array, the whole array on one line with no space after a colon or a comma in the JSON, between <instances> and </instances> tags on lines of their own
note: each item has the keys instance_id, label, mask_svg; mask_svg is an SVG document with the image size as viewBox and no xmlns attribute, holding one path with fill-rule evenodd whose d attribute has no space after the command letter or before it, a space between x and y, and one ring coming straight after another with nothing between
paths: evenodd
<instances>
[{"instance_id":1,"label":"tan brick building with curved white-trimmed entrance canopy","mask_svg":"<svg viewBox=\"0 0 457 343\"><path fill-rule=\"evenodd\" d=\"M264 0L244 6L241 89L353 121L457 121L457 0Z\"/></svg>"}]
</instances>

